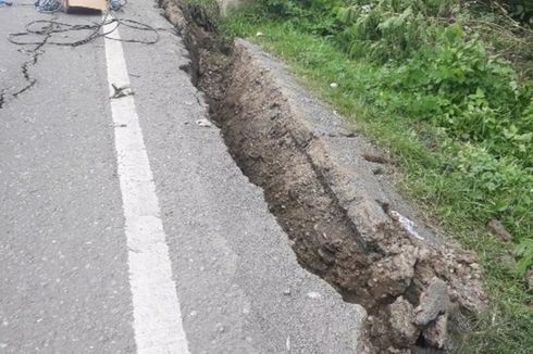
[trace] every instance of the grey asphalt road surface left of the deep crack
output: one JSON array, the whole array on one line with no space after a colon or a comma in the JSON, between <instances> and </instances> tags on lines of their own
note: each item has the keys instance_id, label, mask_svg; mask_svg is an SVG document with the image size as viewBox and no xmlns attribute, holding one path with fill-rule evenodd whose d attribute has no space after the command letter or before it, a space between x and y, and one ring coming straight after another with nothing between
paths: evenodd
<instances>
[{"instance_id":1,"label":"grey asphalt road surface left of the deep crack","mask_svg":"<svg viewBox=\"0 0 533 354\"><path fill-rule=\"evenodd\" d=\"M179 69L182 39L151 1L131 0L116 16L159 28L159 42L119 42L123 58L103 38L35 52L8 33L35 20L101 16L39 14L16 0L0 8L0 353L356 353L361 309L299 267L262 191L219 130L198 125L207 108ZM135 94L111 100L121 59ZM121 114L135 119L117 125ZM121 138L137 117L138 129L124 131L142 146L138 159ZM142 156L149 164L137 163ZM148 187L126 188L139 174ZM162 225L139 226L158 238L138 248L132 219L147 222L128 212L132 193L154 200L150 220ZM170 289L176 311L149 295L158 289ZM185 350L172 344L175 328Z\"/></svg>"}]
</instances>

